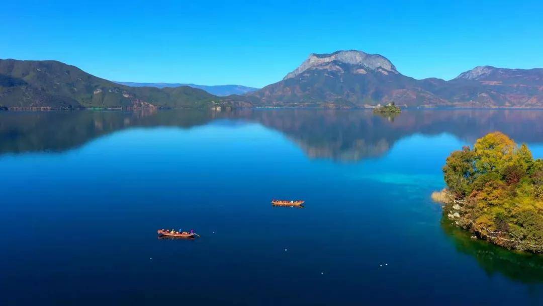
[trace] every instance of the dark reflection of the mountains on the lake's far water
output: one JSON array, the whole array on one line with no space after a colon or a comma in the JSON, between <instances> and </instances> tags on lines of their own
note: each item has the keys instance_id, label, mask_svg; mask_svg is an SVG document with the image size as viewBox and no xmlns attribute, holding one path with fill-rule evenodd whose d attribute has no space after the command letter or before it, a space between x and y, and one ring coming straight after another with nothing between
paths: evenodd
<instances>
[{"instance_id":1,"label":"dark reflection of the mountains on the lake's far water","mask_svg":"<svg viewBox=\"0 0 543 306\"><path fill-rule=\"evenodd\" d=\"M242 109L50 111L0 113L0 153L64 151L131 127L190 128L214 120L257 122L288 136L310 158L379 157L408 135L450 133L472 143L500 130L517 142L541 142L543 110L404 110L394 118L371 110Z\"/></svg>"}]
</instances>

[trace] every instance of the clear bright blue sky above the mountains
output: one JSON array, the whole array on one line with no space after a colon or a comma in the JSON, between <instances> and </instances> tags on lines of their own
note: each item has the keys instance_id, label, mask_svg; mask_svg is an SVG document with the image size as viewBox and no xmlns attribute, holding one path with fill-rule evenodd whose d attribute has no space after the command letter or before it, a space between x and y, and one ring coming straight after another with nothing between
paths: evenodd
<instances>
[{"instance_id":1,"label":"clear bright blue sky above the mountains","mask_svg":"<svg viewBox=\"0 0 543 306\"><path fill-rule=\"evenodd\" d=\"M414 78L543 67L543 1L6 1L0 58L132 82L277 82L310 53L379 53Z\"/></svg>"}]
</instances>

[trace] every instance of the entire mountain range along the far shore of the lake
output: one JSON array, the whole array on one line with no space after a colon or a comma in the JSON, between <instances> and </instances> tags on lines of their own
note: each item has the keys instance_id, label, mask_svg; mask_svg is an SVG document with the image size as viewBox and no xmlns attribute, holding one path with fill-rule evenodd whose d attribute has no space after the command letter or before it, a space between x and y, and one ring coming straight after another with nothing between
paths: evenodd
<instances>
[{"instance_id":1,"label":"entire mountain range along the far shore of the lake","mask_svg":"<svg viewBox=\"0 0 543 306\"><path fill-rule=\"evenodd\" d=\"M418 108L543 108L541 68L479 66L452 80L419 80L382 55L355 50L311 54L279 82L243 95L219 97L230 92L169 85L178 84L118 84L58 61L0 60L0 108L8 109L372 108L393 101Z\"/></svg>"}]
</instances>

